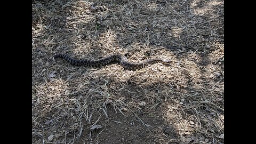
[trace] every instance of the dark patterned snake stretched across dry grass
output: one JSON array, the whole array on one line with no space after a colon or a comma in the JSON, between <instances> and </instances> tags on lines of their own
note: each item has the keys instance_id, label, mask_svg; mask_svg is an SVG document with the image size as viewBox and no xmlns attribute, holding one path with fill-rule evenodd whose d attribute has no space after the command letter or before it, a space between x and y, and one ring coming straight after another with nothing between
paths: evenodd
<instances>
[{"instance_id":1,"label":"dark patterned snake stretched across dry grass","mask_svg":"<svg viewBox=\"0 0 256 144\"><path fill-rule=\"evenodd\" d=\"M125 55L120 54L120 53L113 53L109 54L103 58L94 60L94 59L75 59L70 57L68 54L56 54L53 56L53 60L55 58L62 58L71 63L71 65L75 66L85 66L85 67L101 67L108 65L110 62L117 61L121 64L124 69L128 70L136 70L136 69L141 69L145 68L147 65L161 62L163 64L169 64L171 60L165 60L162 58L154 58L154 59L147 59L142 62L130 62Z\"/></svg>"}]
</instances>

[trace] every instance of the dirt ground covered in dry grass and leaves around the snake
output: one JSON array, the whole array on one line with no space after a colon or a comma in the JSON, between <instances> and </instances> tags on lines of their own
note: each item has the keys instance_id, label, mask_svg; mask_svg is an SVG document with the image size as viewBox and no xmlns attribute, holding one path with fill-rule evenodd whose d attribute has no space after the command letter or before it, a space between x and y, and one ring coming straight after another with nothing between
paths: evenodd
<instances>
[{"instance_id":1,"label":"dirt ground covered in dry grass and leaves around the snake","mask_svg":"<svg viewBox=\"0 0 256 144\"><path fill-rule=\"evenodd\" d=\"M224 143L222 0L32 5L33 143ZM89 68L57 53L172 62Z\"/></svg>"}]
</instances>

